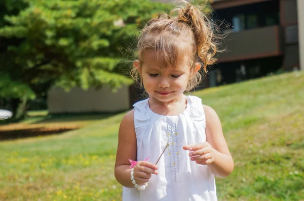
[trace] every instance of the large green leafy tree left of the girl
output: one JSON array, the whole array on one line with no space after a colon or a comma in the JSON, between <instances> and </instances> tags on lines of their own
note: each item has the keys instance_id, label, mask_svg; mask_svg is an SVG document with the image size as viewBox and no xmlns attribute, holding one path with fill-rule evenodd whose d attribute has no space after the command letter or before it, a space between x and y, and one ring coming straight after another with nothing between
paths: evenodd
<instances>
[{"instance_id":1,"label":"large green leafy tree left of the girl","mask_svg":"<svg viewBox=\"0 0 304 201\"><path fill-rule=\"evenodd\" d=\"M0 97L21 100L20 116L27 99L44 95L55 83L84 89L132 83L117 68L117 55L138 34L143 20L167 9L146 0L14 2L19 7L2 2L8 15L0 28L0 39L5 41L0 52ZM8 8L21 10L14 15Z\"/></svg>"}]
</instances>

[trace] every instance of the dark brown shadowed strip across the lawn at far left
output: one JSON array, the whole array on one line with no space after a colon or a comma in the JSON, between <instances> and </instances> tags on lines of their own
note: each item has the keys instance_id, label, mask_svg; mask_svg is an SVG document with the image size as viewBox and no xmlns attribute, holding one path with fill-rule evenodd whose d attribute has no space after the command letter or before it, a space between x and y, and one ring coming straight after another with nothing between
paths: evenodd
<instances>
[{"instance_id":1,"label":"dark brown shadowed strip across the lawn at far left","mask_svg":"<svg viewBox=\"0 0 304 201\"><path fill-rule=\"evenodd\" d=\"M0 131L0 141L4 140L13 140L21 139L26 137L36 137L36 136L45 136L45 135L54 135L61 134L66 131L75 130L78 127L66 127L66 128L27 128L27 129L18 129L18 130L1 130Z\"/></svg>"}]
</instances>

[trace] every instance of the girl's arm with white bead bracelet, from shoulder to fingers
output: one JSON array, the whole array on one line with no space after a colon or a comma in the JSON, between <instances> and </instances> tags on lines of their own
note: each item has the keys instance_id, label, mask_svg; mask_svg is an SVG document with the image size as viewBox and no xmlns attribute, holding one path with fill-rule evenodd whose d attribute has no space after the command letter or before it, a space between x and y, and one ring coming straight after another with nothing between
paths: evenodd
<instances>
[{"instance_id":1,"label":"girl's arm with white bead bracelet, from shoulder to fingers","mask_svg":"<svg viewBox=\"0 0 304 201\"><path fill-rule=\"evenodd\" d=\"M134 128L134 110L128 112L120 125L115 163L116 180L125 187L132 188L129 159L136 161L137 142ZM158 174L157 166L149 162L138 162L134 167L134 177L139 184L149 181L151 174Z\"/></svg>"}]
</instances>

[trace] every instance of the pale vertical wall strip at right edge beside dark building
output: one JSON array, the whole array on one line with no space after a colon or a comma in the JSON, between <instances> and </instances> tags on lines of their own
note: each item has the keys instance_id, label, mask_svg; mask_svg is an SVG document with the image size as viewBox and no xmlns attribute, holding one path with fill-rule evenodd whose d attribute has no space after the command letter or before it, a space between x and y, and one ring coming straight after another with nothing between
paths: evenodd
<instances>
[{"instance_id":1,"label":"pale vertical wall strip at right edge beside dark building","mask_svg":"<svg viewBox=\"0 0 304 201\"><path fill-rule=\"evenodd\" d=\"M299 60L300 69L304 70L304 1L297 0L298 36L299 36Z\"/></svg>"}]
</instances>

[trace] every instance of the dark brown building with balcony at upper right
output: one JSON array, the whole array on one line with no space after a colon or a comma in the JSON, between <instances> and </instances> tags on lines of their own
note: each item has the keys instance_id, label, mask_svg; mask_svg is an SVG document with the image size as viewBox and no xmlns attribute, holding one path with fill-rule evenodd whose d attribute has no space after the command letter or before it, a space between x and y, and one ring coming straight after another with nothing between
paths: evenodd
<instances>
[{"instance_id":1,"label":"dark brown building with balcony at upper right","mask_svg":"<svg viewBox=\"0 0 304 201\"><path fill-rule=\"evenodd\" d=\"M211 6L214 21L230 27L224 29L226 51L209 71L206 87L304 68L304 41L298 37L304 35L304 14L297 12L304 10L302 0L213 0Z\"/></svg>"}]
</instances>

